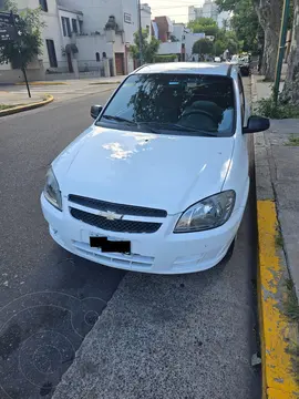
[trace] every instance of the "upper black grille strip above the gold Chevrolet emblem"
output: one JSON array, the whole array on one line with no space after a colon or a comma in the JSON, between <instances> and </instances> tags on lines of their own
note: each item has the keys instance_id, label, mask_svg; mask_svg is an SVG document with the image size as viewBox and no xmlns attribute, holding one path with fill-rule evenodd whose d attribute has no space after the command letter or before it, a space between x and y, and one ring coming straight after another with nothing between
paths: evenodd
<instances>
[{"instance_id":1,"label":"upper black grille strip above the gold Chevrolet emblem","mask_svg":"<svg viewBox=\"0 0 299 399\"><path fill-rule=\"evenodd\" d=\"M145 216L145 217L167 216L167 212L164 209L147 208L147 207L134 206L134 205L114 204L106 201L93 200L73 194L69 195L69 201L93 209L105 211L105 212L110 211L121 215Z\"/></svg>"}]
</instances>

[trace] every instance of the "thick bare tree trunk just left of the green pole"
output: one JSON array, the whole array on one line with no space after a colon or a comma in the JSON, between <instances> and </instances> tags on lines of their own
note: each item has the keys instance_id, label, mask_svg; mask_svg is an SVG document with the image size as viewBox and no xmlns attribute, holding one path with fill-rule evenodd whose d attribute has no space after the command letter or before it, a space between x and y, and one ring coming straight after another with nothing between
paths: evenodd
<instances>
[{"instance_id":1,"label":"thick bare tree trunk just left of the green pole","mask_svg":"<svg viewBox=\"0 0 299 399\"><path fill-rule=\"evenodd\" d=\"M281 0L255 0L259 23L265 32L261 74L266 80L275 80L275 69L281 24Z\"/></svg>"}]
</instances>

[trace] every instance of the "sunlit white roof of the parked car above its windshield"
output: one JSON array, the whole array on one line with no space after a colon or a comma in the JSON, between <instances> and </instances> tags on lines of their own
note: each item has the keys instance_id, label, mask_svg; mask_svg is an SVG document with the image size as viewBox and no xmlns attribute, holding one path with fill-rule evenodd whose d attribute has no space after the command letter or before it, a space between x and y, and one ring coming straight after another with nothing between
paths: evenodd
<instances>
[{"instance_id":1,"label":"sunlit white roof of the parked car above its windshield","mask_svg":"<svg viewBox=\"0 0 299 399\"><path fill-rule=\"evenodd\" d=\"M143 65L133 73L194 73L230 75L231 64L214 62L165 62Z\"/></svg>"}]
</instances>

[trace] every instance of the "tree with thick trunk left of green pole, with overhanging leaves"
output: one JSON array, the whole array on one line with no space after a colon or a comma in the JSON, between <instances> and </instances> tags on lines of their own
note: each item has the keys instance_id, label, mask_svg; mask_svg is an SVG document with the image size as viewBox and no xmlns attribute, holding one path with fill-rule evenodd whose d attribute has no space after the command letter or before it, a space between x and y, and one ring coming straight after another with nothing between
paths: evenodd
<instances>
[{"instance_id":1,"label":"tree with thick trunk left of green pole, with overhanging leaves","mask_svg":"<svg viewBox=\"0 0 299 399\"><path fill-rule=\"evenodd\" d=\"M240 14L244 27L248 23L248 16L244 12L247 0L216 0L220 10L234 11L234 14ZM264 55L262 74L267 80L274 80L277 51L279 43L280 20L282 0L250 0L257 14L258 22L264 30ZM244 4L243 4L244 3ZM247 3L248 4L248 3ZM252 17L252 16L251 16Z\"/></svg>"}]
</instances>

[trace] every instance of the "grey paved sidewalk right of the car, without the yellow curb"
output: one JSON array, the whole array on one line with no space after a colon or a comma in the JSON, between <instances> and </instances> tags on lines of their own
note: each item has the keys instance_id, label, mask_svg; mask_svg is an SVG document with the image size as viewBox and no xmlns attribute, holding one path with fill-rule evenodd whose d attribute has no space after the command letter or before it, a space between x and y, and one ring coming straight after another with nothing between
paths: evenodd
<instances>
[{"instance_id":1,"label":"grey paved sidewalk right of the car, without the yellow curb","mask_svg":"<svg viewBox=\"0 0 299 399\"><path fill-rule=\"evenodd\" d=\"M252 101L270 94L271 83L252 75ZM266 194L266 180L270 180L286 260L299 296L299 120L271 120L270 130L257 134L256 139L256 163L264 167L259 170L264 175L257 176L257 191ZM269 164L269 176L266 164Z\"/></svg>"}]
</instances>

